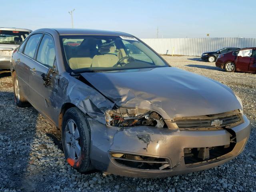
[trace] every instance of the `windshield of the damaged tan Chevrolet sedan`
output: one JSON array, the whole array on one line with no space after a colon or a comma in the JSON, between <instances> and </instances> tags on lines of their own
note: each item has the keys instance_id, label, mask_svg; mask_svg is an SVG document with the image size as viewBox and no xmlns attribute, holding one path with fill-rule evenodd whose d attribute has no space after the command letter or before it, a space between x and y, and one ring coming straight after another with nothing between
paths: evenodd
<instances>
[{"instance_id":1,"label":"windshield of the damaged tan Chevrolet sedan","mask_svg":"<svg viewBox=\"0 0 256 192\"><path fill-rule=\"evenodd\" d=\"M68 66L74 71L168 67L154 51L133 37L61 36Z\"/></svg>"}]
</instances>

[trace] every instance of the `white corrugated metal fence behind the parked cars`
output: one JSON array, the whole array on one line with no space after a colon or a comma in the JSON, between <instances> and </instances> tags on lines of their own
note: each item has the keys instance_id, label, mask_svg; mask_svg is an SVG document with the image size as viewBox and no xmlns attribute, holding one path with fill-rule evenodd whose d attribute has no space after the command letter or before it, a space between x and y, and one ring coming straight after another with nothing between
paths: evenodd
<instances>
[{"instance_id":1,"label":"white corrugated metal fence behind the parked cars","mask_svg":"<svg viewBox=\"0 0 256 192\"><path fill-rule=\"evenodd\" d=\"M158 38L141 39L159 54L201 56L224 47L256 47L256 38Z\"/></svg>"}]
</instances>

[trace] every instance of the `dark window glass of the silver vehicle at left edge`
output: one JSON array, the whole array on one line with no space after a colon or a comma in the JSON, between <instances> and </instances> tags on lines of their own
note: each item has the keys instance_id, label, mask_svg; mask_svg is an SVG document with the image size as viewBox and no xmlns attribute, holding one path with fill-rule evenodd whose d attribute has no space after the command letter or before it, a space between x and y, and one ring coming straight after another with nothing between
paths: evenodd
<instances>
[{"instance_id":1,"label":"dark window glass of the silver vehicle at left edge","mask_svg":"<svg viewBox=\"0 0 256 192\"><path fill-rule=\"evenodd\" d=\"M0 44L21 44L30 34L27 31L0 30Z\"/></svg>"}]
</instances>

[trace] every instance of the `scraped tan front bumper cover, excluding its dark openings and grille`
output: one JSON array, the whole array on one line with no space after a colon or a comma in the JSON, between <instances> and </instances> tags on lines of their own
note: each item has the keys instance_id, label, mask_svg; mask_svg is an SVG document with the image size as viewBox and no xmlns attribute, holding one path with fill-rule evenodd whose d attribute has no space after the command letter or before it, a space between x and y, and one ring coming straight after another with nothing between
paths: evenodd
<instances>
[{"instance_id":1,"label":"scraped tan front bumper cover, excluding its dark openings and grille","mask_svg":"<svg viewBox=\"0 0 256 192\"><path fill-rule=\"evenodd\" d=\"M161 178L213 168L235 158L244 149L250 136L250 121L244 116L244 122L234 128L236 145L232 151L216 159L195 164L185 164L184 148L204 148L230 144L227 130L214 131L176 131L147 126L106 127L95 120L88 119L91 129L92 165L106 172L129 177ZM143 135L147 140L143 140ZM170 160L170 170L142 170L117 163L110 152L153 156Z\"/></svg>"}]
</instances>

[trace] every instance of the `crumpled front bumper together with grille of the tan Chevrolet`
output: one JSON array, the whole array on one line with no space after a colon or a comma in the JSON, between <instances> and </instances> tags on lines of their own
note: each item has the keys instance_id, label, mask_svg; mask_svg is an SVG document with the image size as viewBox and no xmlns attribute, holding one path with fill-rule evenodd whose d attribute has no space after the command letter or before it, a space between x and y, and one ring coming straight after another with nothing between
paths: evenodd
<instances>
[{"instance_id":1,"label":"crumpled front bumper together with grille of the tan Chevrolet","mask_svg":"<svg viewBox=\"0 0 256 192\"><path fill-rule=\"evenodd\" d=\"M223 164L242 152L250 134L250 122L238 110L207 119L204 116L178 118L168 123L170 127L131 123L106 128L92 119L89 124L94 151L91 158L97 167L115 174L146 178Z\"/></svg>"}]
</instances>

